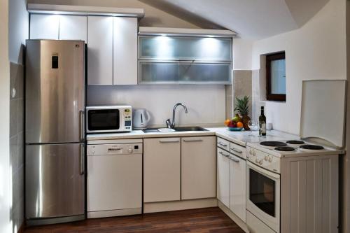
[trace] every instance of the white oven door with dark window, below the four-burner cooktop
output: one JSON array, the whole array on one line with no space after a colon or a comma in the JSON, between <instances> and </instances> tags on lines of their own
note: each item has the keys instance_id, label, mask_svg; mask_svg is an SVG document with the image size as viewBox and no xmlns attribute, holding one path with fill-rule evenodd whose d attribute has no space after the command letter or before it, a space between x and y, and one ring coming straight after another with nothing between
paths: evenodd
<instances>
[{"instance_id":1,"label":"white oven door with dark window, below the four-burner cooktop","mask_svg":"<svg viewBox=\"0 0 350 233\"><path fill-rule=\"evenodd\" d=\"M246 165L246 209L279 232L281 176L249 161Z\"/></svg>"}]
</instances>

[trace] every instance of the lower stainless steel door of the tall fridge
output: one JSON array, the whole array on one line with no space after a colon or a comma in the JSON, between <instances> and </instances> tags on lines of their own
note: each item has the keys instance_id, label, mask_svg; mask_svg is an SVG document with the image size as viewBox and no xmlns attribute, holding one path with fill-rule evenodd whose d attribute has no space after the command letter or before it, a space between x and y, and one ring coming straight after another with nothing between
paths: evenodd
<instances>
[{"instance_id":1,"label":"lower stainless steel door of the tall fridge","mask_svg":"<svg viewBox=\"0 0 350 233\"><path fill-rule=\"evenodd\" d=\"M85 145L29 145L25 155L26 218L85 213Z\"/></svg>"}]
</instances>

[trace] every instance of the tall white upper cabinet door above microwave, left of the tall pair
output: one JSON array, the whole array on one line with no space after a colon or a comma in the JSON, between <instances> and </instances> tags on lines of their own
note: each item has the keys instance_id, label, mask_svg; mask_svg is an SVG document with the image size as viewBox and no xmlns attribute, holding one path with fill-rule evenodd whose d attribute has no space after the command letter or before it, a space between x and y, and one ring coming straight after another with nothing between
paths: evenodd
<instances>
[{"instance_id":1,"label":"tall white upper cabinet door above microwave, left of the tall pair","mask_svg":"<svg viewBox=\"0 0 350 233\"><path fill-rule=\"evenodd\" d=\"M113 85L113 17L87 17L87 84Z\"/></svg>"}]
</instances>

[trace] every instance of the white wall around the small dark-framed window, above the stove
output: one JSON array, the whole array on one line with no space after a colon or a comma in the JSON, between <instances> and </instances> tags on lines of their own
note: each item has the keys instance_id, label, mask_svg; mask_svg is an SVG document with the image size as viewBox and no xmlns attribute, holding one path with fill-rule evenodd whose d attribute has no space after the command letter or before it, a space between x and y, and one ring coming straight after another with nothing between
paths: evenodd
<instances>
[{"instance_id":1,"label":"white wall around the small dark-framed window, above the stove","mask_svg":"<svg viewBox=\"0 0 350 233\"><path fill-rule=\"evenodd\" d=\"M346 79L345 3L331 0L300 29L253 43L253 69L260 55L286 51L286 103L265 103L275 129L299 134L302 80Z\"/></svg>"}]
</instances>

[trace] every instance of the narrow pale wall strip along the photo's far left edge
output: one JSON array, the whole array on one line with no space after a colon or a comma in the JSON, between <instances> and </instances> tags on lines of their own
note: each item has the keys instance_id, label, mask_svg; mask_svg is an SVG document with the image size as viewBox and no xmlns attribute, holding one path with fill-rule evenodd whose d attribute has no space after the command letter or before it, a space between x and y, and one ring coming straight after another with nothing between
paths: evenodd
<instances>
[{"instance_id":1,"label":"narrow pale wall strip along the photo's far left edge","mask_svg":"<svg viewBox=\"0 0 350 233\"><path fill-rule=\"evenodd\" d=\"M0 232L10 225L10 65L8 62L8 0L0 0Z\"/></svg>"}]
</instances>

